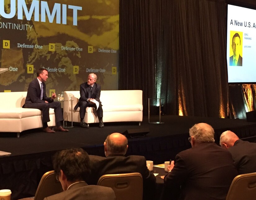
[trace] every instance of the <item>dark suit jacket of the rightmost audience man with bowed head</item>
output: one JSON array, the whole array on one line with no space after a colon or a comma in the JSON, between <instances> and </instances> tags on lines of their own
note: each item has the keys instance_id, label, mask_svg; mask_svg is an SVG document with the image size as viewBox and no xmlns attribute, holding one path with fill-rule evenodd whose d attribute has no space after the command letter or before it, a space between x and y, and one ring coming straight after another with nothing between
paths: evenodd
<instances>
[{"instance_id":1,"label":"dark suit jacket of the rightmost audience man with bowed head","mask_svg":"<svg viewBox=\"0 0 256 200\"><path fill-rule=\"evenodd\" d=\"M239 174L256 172L256 143L236 140L228 150Z\"/></svg>"}]
</instances>

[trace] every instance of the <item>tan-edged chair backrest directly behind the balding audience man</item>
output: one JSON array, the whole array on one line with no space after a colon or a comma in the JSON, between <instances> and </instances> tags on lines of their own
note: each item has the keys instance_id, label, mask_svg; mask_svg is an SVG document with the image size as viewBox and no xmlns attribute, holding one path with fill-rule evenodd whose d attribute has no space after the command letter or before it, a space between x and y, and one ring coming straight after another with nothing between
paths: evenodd
<instances>
[{"instance_id":1,"label":"tan-edged chair backrest directly behind the balding audience man","mask_svg":"<svg viewBox=\"0 0 256 200\"><path fill-rule=\"evenodd\" d=\"M99 178L97 185L112 188L116 200L142 200L143 181L140 173L106 174Z\"/></svg>"}]
</instances>

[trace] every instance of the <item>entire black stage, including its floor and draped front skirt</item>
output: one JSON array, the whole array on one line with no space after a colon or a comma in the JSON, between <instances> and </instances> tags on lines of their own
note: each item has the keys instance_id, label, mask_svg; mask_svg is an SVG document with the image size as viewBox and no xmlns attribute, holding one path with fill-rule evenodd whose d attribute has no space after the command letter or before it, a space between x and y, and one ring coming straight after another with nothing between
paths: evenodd
<instances>
[{"instance_id":1,"label":"entire black stage, including its floor and draped front skirt","mask_svg":"<svg viewBox=\"0 0 256 200\"><path fill-rule=\"evenodd\" d=\"M20 138L16 138L16 133L0 133L0 151L11 152L10 157L0 158L0 189L11 189L12 199L33 196L42 174L52 170L51 159L56 151L82 147L89 154L104 156L103 143L113 132L149 129L145 137L128 138L127 155L144 155L154 164L174 159L179 151L190 148L188 131L195 123L205 122L213 126L216 143L225 130L252 140L256 135L256 123L241 119L164 115L161 121L164 124L149 124L144 117L141 126L133 122L117 122L104 123L104 128L93 124L89 129L74 123L67 133L50 134L34 129L22 132Z\"/></svg>"}]
</instances>

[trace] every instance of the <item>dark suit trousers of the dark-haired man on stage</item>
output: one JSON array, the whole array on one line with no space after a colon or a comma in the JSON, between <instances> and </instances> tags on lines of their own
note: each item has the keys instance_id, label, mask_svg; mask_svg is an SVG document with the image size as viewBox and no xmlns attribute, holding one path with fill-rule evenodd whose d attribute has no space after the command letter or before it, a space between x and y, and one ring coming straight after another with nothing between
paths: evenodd
<instances>
[{"instance_id":1,"label":"dark suit trousers of the dark-haired man on stage","mask_svg":"<svg viewBox=\"0 0 256 200\"><path fill-rule=\"evenodd\" d=\"M61 102L53 101L51 103L27 103L24 104L24 108L35 108L42 111L43 123L50 121L49 109L53 108L55 113L55 122L63 121L63 114L61 110Z\"/></svg>"}]
</instances>

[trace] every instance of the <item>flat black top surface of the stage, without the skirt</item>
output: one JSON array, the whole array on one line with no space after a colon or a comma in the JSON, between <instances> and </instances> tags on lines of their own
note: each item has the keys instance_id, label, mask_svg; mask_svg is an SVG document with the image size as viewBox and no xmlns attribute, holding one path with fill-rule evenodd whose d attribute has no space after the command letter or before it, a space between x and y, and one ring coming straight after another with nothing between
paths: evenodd
<instances>
[{"instance_id":1,"label":"flat black top surface of the stage, without the skirt","mask_svg":"<svg viewBox=\"0 0 256 200\"><path fill-rule=\"evenodd\" d=\"M157 119L157 117L156 117ZM151 119L150 119L151 120ZM185 117L185 116L162 116L164 124L149 124L147 117L143 118L141 126L135 122L105 123L104 128L98 124L91 124L89 129L79 127L79 123L73 123L74 127L69 132L54 134L44 133L40 129L23 131L20 138L16 133L0 133L0 151L11 152L11 156L31 155L49 151L57 151L65 148L83 147L93 148L103 145L106 136L113 132L123 133L130 129L149 129L144 138L129 138L128 141L152 140L159 137L170 137L185 134L187 137L189 128L195 123L205 122L213 126L216 134L225 130L244 130L256 128L256 123L240 119L221 119L213 117ZM68 126L71 124L68 124ZM238 133L240 134L240 132ZM254 135L247 132L242 137ZM218 142L218 137L216 137Z\"/></svg>"}]
</instances>

